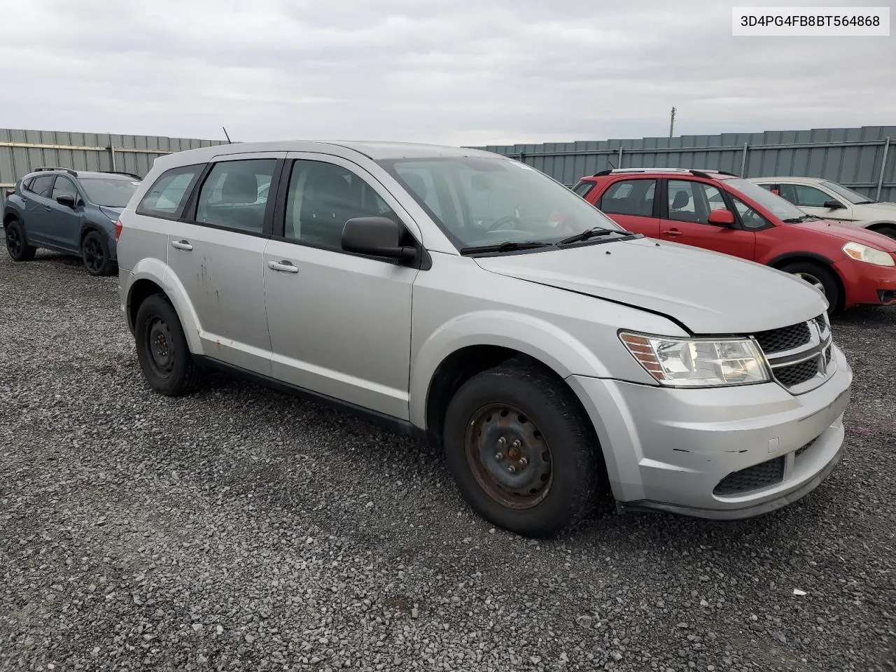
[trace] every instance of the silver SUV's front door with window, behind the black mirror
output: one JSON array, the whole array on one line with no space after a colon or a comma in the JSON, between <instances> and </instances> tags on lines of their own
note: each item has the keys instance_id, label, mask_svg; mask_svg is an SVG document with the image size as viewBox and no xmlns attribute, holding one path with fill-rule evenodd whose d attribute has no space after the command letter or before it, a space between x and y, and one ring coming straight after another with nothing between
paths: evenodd
<instances>
[{"instance_id":1,"label":"silver SUV's front door with window, behind the black mirror","mask_svg":"<svg viewBox=\"0 0 896 672\"><path fill-rule=\"evenodd\" d=\"M264 250L272 374L407 419L411 292L419 271L343 252L341 236L354 217L409 216L348 160L292 157L282 216Z\"/></svg>"}]
</instances>

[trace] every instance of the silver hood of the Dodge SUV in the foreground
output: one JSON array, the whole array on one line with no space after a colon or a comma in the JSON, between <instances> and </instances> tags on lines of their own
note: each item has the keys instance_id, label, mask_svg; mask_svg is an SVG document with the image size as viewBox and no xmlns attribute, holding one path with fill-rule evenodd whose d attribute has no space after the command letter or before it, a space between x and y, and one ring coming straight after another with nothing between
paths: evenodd
<instances>
[{"instance_id":1,"label":"silver hood of the Dodge SUV in the foreground","mask_svg":"<svg viewBox=\"0 0 896 672\"><path fill-rule=\"evenodd\" d=\"M476 262L512 278L665 314L692 333L762 332L809 320L827 307L815 289L781 271L650 238Z\"/></svg>"}]
</instances>

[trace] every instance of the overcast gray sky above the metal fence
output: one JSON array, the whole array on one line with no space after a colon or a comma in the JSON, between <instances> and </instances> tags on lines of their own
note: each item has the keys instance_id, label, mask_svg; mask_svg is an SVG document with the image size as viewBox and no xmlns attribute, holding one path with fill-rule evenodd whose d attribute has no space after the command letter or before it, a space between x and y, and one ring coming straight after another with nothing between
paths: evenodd
<instances>
[{"instance_id":1,"label":"overcast gray sky above the metal fence","mask_svg":"<svg viewBox=\"0 0 896 672\"><path fill-rule=\"evenodd\" d=\"M0 0L0 127L478 145L666 135L673 105L676 135L896 122L896 37L733 38L735 4Z\"/></svg>"}]
</instances>

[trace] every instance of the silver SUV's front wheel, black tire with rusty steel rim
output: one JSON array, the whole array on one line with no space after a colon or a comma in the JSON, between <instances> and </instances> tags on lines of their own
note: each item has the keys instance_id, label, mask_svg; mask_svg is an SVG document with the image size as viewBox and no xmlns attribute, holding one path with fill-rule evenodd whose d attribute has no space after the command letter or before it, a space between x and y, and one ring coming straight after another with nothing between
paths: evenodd
<instances>
[{"instance_id":1,"label":"silver SUV's front wheel, black tire with rusty steel rim","mask_svg":"<svg viewBox=\"0 0 896 672\"><path fill-rule=\"evenodd\" d=\"M444 447L467 503L525 537L581 521L604 481L597 437L573 392L521 359L461 385L445 414Z\"/></svg>"}]
</instances>

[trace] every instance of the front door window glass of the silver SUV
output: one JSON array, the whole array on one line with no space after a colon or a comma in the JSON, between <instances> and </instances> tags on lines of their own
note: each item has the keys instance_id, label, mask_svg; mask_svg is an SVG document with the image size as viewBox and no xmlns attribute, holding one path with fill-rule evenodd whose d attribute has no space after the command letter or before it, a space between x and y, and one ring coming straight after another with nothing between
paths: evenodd
<instances>
[{"instance_id":1,"label":"front door window glass of the silver SUV","mask_svg":"<svg viewBox=\"0 0 896 672\"><path fill-rule=\"evenodd\" d=\"M400 221L374 188L348 168L306 159L293 163L284 237L341 251L342 229L356 217Z\"/></svg>"}]
</instances>

